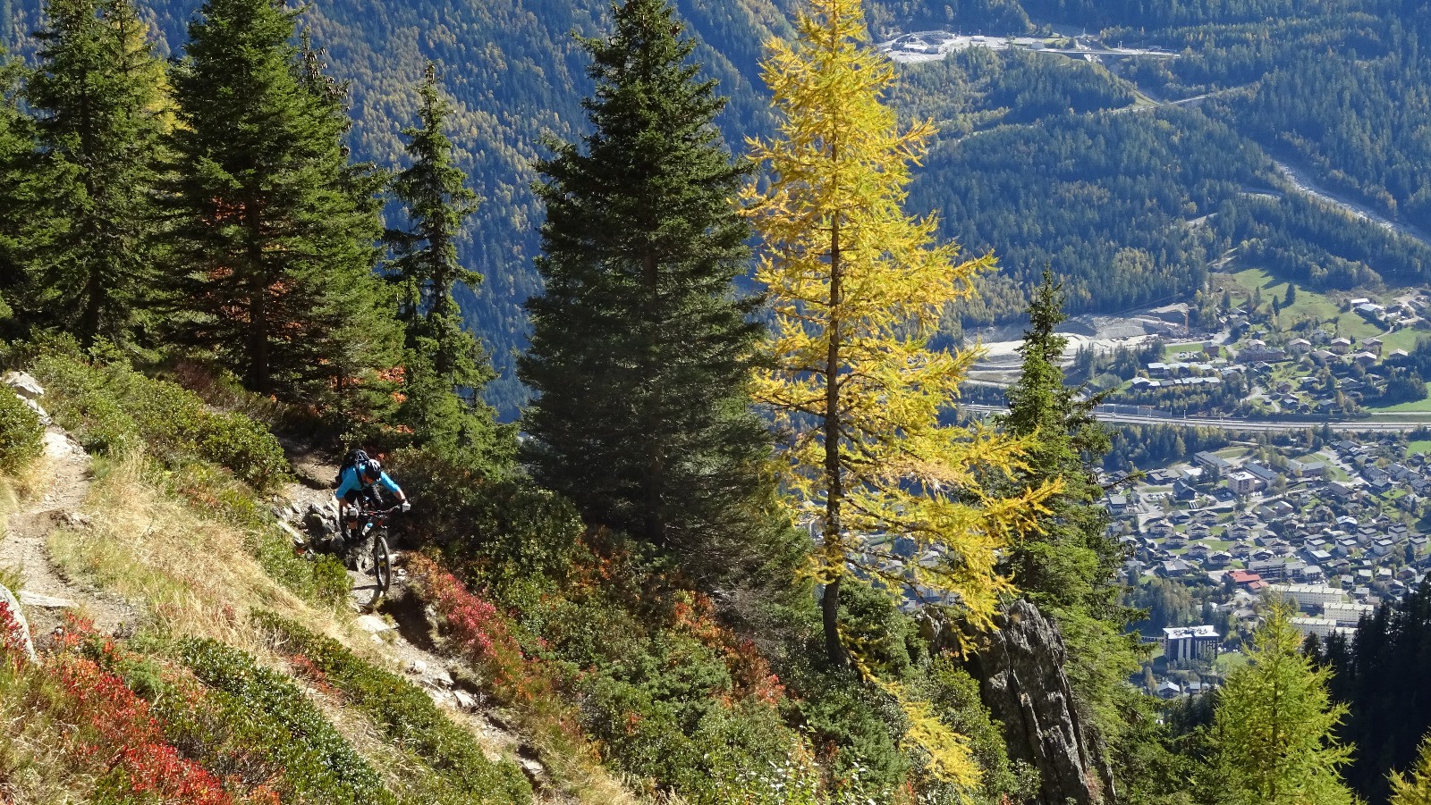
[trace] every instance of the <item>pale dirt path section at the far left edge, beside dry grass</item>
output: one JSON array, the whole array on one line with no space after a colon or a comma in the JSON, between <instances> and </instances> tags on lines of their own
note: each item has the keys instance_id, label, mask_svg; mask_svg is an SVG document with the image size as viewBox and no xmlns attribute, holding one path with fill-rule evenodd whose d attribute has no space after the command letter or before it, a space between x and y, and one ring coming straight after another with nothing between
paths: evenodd
<instances>
[{"instance_id":1,"label":"pale dirt path section at the far left edge, beside dry grass","mask_svg":"<svg viewBox=\"0 0 1431 805\"><path fill-rule=\"evenodd\" d=\"M30 618L36 638L60 623L66 609L80 609L94 619L102 632L113 633L133 625L135 609L123 599L64 576L50 558L46 538L52 530L86 528L89 518L80 510L89 496L90 459L64 430L49 426L44 432L44 495L27 502L9 522L0 542L0 568L20 576L20 603Z\"/></svg>"}]
</instances>

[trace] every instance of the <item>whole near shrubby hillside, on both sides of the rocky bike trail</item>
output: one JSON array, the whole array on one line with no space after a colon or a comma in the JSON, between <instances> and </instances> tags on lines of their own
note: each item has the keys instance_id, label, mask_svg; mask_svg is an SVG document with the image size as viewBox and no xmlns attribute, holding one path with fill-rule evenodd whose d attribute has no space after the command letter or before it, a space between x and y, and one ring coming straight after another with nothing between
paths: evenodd
<instances>
[{"instance_id":1,"label":"whole near shrubby hillside, on both sides of the rocky bike trail","mask_svg":"<svg viewBox=\"0 0 1431 805\"><path fill-rule=\"evenodd\" d=\"M717 601L529 479L409 449L385 460L416 505L378 596L331 553L336 468L269 432L302 412L183 362L150 372L203 396L63 343L0 355L37 379L6 379L33 408L0 387L6 805L993 805L1037 785L884 593L851 582L843 606L902 699L819 662L803 540ZM909 701L964 736L973 778L910 742Z\"/></svg>"}]
</instances>

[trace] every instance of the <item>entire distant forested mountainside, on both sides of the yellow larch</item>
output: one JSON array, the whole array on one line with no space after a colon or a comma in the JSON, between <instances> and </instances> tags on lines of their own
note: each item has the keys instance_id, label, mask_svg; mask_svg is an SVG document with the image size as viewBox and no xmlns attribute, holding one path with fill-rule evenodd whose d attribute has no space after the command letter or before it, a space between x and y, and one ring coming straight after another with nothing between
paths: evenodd
<instances>
[{"instance_id":1,"label":"entire distant forested mountainside, on both sides of the yellow larch","mask_svg":"<svg viewBox=\"0 0 1431 805\"><path fill-rule=\"evenodd\" d=\"M720 124L733 147L768 130L758 63L767 39L787 33L788 6L677 3L700 41L695 59L731 99ZM196 7L159 0L146 10L162 50L182 47ZM20 51L33 50L24 34L37 9L19 0L7 17ZM876 39L1055 26L1176 56L973 49L900 67L903 113L940 127L913 206L942 210L943 234L1000 256L1000 275L964 313L990 322L1017 317L1045 263L1069 279L1075 312L1189 299L1206 266L1228 255L1314 286L1425 279L1424 10L1391 0L902 0L874 3L867 16ZM351 82L356 153L382 166L402 160L398 133L416 104L406 87L428 59L438 63L456 104L456 162L482 197L462 256L485 282L459 300L494 350L502 376L488 393L507 415L525 396L511 372L527 333L519 306L538 289L532 160L547 153L544 136L581 130L590 79L570 34L604 30L607 13L597 0L325 0L305 13L329 71ZM1185 99L1193 100L1169 106ZM1292 192L1274 157L1401 222L1411 237Z\"/></svg>"}]
</instances>

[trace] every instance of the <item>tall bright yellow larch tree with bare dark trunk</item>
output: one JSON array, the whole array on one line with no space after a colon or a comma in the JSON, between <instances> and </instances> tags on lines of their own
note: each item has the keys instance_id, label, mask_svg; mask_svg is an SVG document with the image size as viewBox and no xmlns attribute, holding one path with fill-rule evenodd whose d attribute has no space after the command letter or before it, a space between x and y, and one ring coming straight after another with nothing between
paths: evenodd
<instances>
[{"instance_id":1,"label":"tall bright yellow larch tree with bare dark trunk","mask_svg":"<svg viewBox=\"0 0 1431 805\"><path fill-rule=\"evenodd\" d=\"M932 243L934 219L902 209L930 126L900 132L881 102L894 73L869 47L859 0L814 0L796 30L764 66L781 116L777 139L753 143L768 189L746 193L767 247L756 279L776 312L756 397L788 433L791 509L819 512L826 653L840 666L840 585L854 562L873 556L860 569L892 595L956 601L986 625L1009 589L999 550L1050 490L987 495L975 470L1022 466L1025 442L942 422L975 352L930 350L929 336L992 259L956 263L953 245ZM889 535L939 560L890 571Z\"/></svg>"}]
</instances>

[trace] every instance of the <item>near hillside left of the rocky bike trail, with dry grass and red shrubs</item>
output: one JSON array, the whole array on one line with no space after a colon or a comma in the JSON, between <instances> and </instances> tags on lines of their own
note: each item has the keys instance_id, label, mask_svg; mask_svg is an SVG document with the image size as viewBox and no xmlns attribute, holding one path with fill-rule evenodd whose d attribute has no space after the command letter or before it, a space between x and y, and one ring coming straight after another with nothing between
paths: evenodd
<instances>
[{"instance_id":1,"label":"near hillside left of the rocky bike trail, with dry grass and red shrubs","mask_svg":"<svg viewBox=\"0 0 1431 805\"><path fill-rule=\"evenodd\" d=\"M548 769L528 738L495 726L478 672L414 645L391 615L356 616L342 568L295 556L276 528L270 508L311 498L302 486L243 448L173 439L185 425L137 426L132 396L94 410L114 397L86 387L104 373L82 363L36 372L40 400L73 430L52 425L33 462L0 456L0 582L19 592L39 649L16 651L20 613L0 606L0 801L625 799L578 754L545 745L558 758ZM160 397L150 413L197 402L116 372L104 379ZM225 423L248 459L282 460L232 416L195 413L187 426ZM272 473L249 476L268 495L236 468ZM421 622L405 621L406 633L432 648Z\"/></svg>"}]
</instances>

